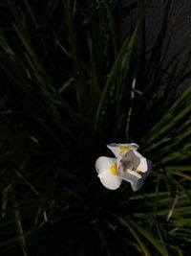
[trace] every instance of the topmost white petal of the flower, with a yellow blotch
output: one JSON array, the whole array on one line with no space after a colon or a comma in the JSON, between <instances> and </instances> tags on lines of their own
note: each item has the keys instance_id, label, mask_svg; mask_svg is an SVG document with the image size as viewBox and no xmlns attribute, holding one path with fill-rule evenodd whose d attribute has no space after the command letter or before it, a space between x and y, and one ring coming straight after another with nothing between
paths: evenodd
<instances>
[{"instance_id":1,"label":"topmost white petal of the flower, with a yellow blotch","mask_svg":"<svg viewBox=\"0 0 191 256\"><path fill-rule=\"evenodd\" d=\"M116 157L118 157L118 155L123 151L130 151L130 150L138 151L138 144L136 143L130 143L130 144L113 143L113 144L108 144L107 147L108 149L113 151Z\"/></svg>"}]
</instances>

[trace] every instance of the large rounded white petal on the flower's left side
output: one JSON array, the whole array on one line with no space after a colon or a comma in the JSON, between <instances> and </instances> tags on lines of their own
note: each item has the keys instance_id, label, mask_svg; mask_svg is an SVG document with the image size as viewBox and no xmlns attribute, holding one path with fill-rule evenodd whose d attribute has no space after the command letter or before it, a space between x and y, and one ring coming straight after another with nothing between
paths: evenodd
<instances>
[{"instance_id":1,"label":"large rounded white petal on the flower's left side","mask_svg":"<svg viewBox=\"0 0 191 256\"><path fill-rule=\"evenodd\" d=\"M96 160L96 172L100 178L100 182L108 189L117 189L122 180L117 176L113 175L110 168L112 165L116 165L116 158L110 158L101 156Z\"/></svg>"}]
</instances>

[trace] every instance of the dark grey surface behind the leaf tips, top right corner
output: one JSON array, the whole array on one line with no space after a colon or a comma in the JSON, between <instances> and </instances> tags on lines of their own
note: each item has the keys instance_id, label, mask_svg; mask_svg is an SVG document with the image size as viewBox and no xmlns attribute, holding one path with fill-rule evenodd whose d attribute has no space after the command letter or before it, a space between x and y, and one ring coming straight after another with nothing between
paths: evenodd
<instances>
[{"instance_id":1,"label":"dark grey surface behind the leaf tips, top right corner","mask_svg":"<svg viewBox=\"0 0 191 256\"><path fill-rule=\"evenodd\" d=\"M174 2L174 8L170 19L168 32L172 37L165 61L172 59L176 54L181 52L180 62L183 63L183 60L187 58L187 54L191 48L191 1L180 0L171 2ZM148 50L151 49L156 42L157 36L159 35L159 29L162 25L161 22L164 17L167 1L118 0L116 1L116 5L117 4L121 5L122 7L122 34L124 37L127 37L130 34L130 21L132 19L136 20L136 17L141 15L142 6L144 6L147 48ZM191 64L187 66L187 70L189 70L190 67ZM190 79L187 79L181 84L180 90L182 90L186 84L191 81L191 75L189 78Z\"/></svg>"}]
</instances>

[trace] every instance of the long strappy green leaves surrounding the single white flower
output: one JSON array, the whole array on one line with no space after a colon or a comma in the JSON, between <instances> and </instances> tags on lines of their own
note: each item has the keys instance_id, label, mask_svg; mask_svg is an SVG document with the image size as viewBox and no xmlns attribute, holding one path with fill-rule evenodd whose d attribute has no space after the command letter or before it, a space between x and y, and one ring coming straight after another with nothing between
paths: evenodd
<instances>
[{"instance_id":1,"label":"long strappy green leaves surrounding the single white flower","mask_svg":"<svg viewBox=\"0 0 191 256\"><path fill-rule=\"evenodd\" d=\"M150 53L144 15L121 44L107 0L1 10L1 255L189 255L190 53L164 61L173 1ZM137 193L107 191L96 158L127 139L153 171Z\"/></svg>"}]
</instances>

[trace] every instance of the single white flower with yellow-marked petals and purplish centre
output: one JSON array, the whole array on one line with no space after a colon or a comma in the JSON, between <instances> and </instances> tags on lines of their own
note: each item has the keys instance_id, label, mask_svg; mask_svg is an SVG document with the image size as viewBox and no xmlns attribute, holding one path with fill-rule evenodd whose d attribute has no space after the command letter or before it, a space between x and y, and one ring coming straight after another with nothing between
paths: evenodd
<instances>
[{"instance_id":1,"label":"single white flower with yellow-marked petals and purplish centre","mask_svg":"<svg viewBox=\"0 0 191 256\"><path fill-rule=\"evenodd\" d=\"M130 182L134 191L138 191L151 170L151 161L138 153L136 143L109 144L107 147L116 158L100 156L96 160L96 172L103 186L116 190L123 179Z\"/></svg>"}]
</instances>

